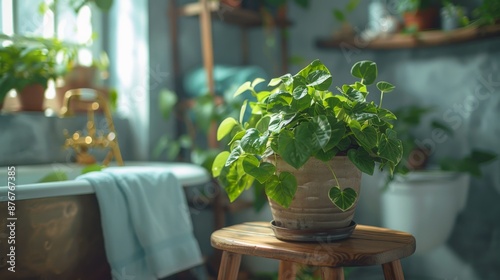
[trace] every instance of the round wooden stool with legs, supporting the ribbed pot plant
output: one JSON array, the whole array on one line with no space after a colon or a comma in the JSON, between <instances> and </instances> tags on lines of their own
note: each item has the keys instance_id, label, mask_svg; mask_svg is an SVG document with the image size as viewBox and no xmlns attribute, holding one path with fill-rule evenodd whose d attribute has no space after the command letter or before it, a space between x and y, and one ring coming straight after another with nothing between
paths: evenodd
<instances>
[{"instance_id":1,"label":"round wooden stool with legs, supporting the ribbed pot plant","mask_svg":"<svg viewBox=\"0 0 500 280\"><path fill-rule=\"evenodd\" d=\"M344 279L344 266L382 265L385 279L404 279L400 259L415 252L405 232L357 225L347 239L287 242L276 239L269 222L225 227L212 233L212 246L223 250L218 280L236 280L241 255L280 260L279 279L295 280L294 263L321 267L323 279Z\"/></svg>"}]
</instances>

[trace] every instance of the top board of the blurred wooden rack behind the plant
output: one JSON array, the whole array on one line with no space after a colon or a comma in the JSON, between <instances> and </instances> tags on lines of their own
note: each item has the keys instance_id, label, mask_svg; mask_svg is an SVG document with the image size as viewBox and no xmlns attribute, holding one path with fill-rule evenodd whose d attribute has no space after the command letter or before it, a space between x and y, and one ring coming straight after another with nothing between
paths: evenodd
<instances>
[{"instance_id":1,"label":"top board of the blurred wooden rack behind the plant","mask_svg":"<svg viewBox=\"0 0 500 280\"><path fill-rule=\"evenodd\" d=\"M258 12L231 7L219 1L209 1L207 5L208 9L212 12L212 17L220 21L241 27L258 27L264 24L264 18ZM178 14L180 16L197 16L202 10L202 3L194 2L179 7ZM291 22L288 20L276 21L275 23L280 27L291 25Z\"/></svg>"}]
</instances>

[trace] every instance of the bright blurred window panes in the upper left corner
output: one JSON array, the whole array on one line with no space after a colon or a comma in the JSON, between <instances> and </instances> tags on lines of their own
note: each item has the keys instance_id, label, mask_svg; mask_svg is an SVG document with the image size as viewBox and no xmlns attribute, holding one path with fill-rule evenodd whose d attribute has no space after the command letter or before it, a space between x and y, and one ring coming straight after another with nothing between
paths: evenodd
<instances>
[{"instance_id":1,"label":"bright blurred window panes in the upper left corner","mask_svg":"<svg viewBox=\"0 0 500 280\"><path fill-rule=\"evenodd\" d=\"M0 0L0 33L55 37L65 42L87 46L79 51L78 62L90 66L93 58L99 57L102 52L102 41L98 36L102 29L101 12L88 5L82 6L76 12L70 2ZM54 82L49 82L45 93L49 108L58 107L54 101L55 91ZM12 91L9 97L15 99L16 93ZM16 106L14 104L13 107Z\"/></svg>"}]
</instances>

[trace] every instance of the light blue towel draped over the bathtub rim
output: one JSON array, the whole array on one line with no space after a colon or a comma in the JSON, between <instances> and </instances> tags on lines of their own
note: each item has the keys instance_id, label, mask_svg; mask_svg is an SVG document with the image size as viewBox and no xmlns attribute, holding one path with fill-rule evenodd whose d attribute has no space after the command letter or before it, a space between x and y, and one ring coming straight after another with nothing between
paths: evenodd
<instances>
[{"instance_id":1,"label":"light blue towel draped over the bathtub rim","mask_svg":"<svg viewBox=\"0 0 500 280\"><path fill-rule=\"evenodd\" d=\"M202 263L182 186L170 172L115 167L77 179L95 189L113 279L158 279Z\"/></svg>"}]
</instances>

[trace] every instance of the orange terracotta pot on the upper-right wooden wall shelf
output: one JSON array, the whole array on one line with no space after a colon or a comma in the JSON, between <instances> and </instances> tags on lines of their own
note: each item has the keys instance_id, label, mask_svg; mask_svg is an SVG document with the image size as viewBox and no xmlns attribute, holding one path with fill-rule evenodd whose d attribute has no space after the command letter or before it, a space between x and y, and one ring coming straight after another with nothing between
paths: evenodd
<instances>
[{"instance_id":1,"label":"orange terracotta pot on the upper-right wooden wall shelf","mask_svg":"<svg viewBox=\"0 0 500 280\"><path fill-rule=\"evenodd\" d=\"M439 3L436 0L398 0L398 12L407 30L422 31L439 27Z\"/></svg>"}]
</instances>

